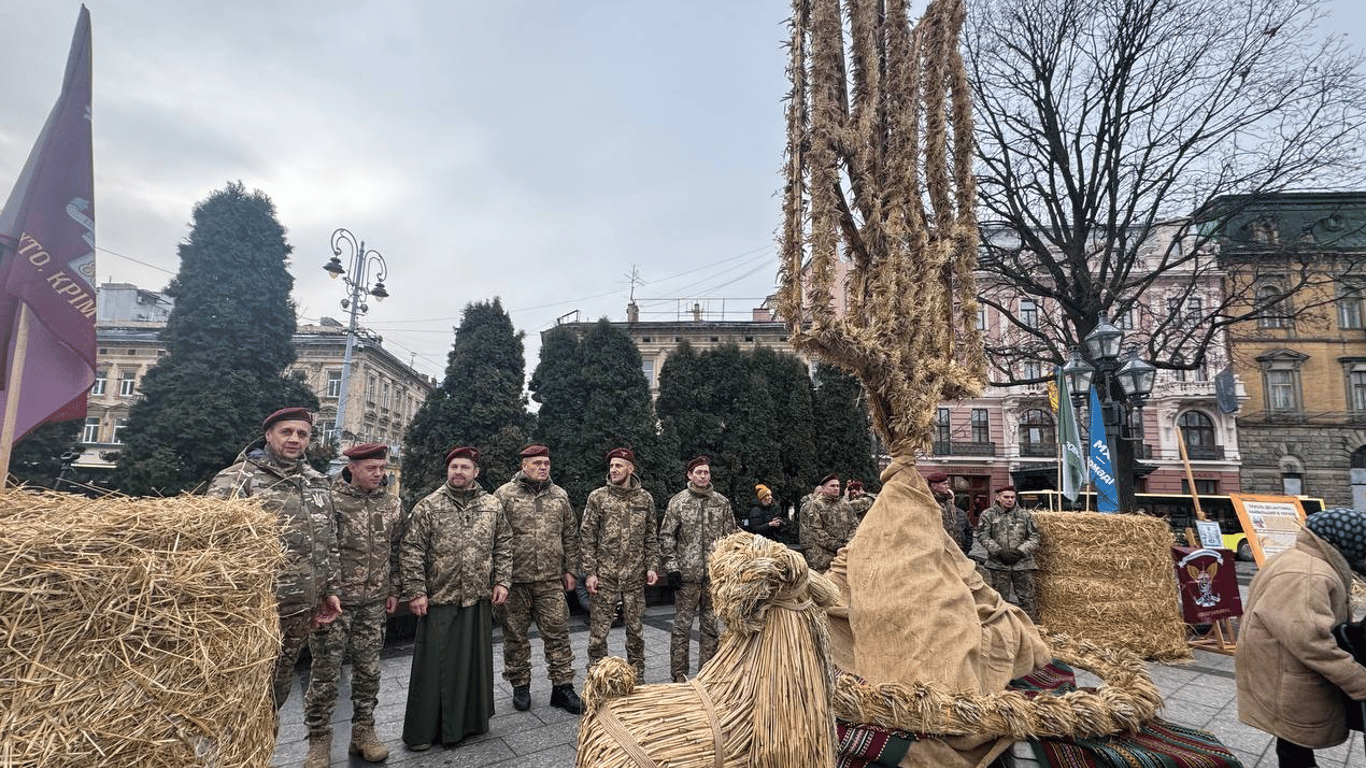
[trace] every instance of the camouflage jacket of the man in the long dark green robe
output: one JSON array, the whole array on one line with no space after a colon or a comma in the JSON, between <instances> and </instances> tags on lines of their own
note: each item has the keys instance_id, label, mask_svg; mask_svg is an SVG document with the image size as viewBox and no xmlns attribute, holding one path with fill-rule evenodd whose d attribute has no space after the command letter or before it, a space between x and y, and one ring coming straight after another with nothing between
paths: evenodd
<instances>
[{"instance_id":1,"label":"camouflage jacket of the man in the long dark green robe","mask_svg":"<svg viewBox=\"0 0 1366 768\"><path fill-rule=\"evenodd\" d=\"M447 484L413 507L399 544L403 597L474 605L512 585L512 529L503 503L478 485Z\"/></svg>"}]
</instances>

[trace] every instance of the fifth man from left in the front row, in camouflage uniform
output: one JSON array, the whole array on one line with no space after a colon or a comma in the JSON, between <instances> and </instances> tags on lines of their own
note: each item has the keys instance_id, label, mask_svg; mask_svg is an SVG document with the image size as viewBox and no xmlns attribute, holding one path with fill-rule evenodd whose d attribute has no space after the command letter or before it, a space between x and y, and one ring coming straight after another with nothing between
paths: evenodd
<instances>
[{"instance_id":1,"label":"fifth man from left in the front row, in camouflage uniform","mask_svg":"<svg viewBox=\"0 0 1366 768\"><path fill-rule=\"evenodd\" d=\"M589 668L607 656L607 635L616 604L626 619L626 657L645 682L645 586L658 581L660 544L654 497L635 477L630 448L608 451L607 485L589 493L579 543L583 549L589 608Z\"/></svg>"}]
</instances>

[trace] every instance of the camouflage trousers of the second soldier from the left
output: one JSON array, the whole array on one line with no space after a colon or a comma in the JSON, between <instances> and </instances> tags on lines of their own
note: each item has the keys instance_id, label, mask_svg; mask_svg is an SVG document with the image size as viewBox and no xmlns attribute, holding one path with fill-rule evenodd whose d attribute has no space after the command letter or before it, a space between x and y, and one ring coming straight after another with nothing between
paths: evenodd
<instances>
[{"instance_id":1,"label":"camouflage trousers of the second soldier from the left","mask_svg":"<svg viewBox=\"0 0 1366 768\"><path fill-rule=\"evenodd\" d=\"M342 664L351 660L351 722L374 724L374 705L380 697L380 650L384 648L384 601L348 605L337 620L309 635L313 670L309 690L303 694L303 722L309 732L332 728L332 711L337 705L337 682Z\"/></svg>"}]
</instances>

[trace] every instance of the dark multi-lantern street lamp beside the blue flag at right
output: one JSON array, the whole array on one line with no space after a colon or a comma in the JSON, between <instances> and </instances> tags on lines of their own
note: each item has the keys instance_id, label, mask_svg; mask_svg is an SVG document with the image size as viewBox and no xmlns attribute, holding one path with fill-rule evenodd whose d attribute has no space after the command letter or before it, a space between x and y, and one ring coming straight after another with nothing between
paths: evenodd
<instances>
[{"instance_id":1,"label":"dark multi-lantern street lamp beside the blue flag at right","mask_svg":"<svg viewBox=\"0 0 1366 768\"><path fill-rule=\"evenodd\" d=\"M1105 424L1105 437L1115 459L1115 493L1120 511L1135 511L1134 496L1134 443L1142 436L1134 435L1134 426L1141 418L1139 411L1153 392L1157 369L1152 364L1132 357L1120 364L1120 348L1124 332L1100 316L1096 328L1082 340L1086 359L1079 350L1072 350L1072 359L1063 366L1068 387L1076 406L1089 400L1093 379L1101 400L1101 417ZM1098 376L1098 379L1097 379ZM1094 437L1093 437L1094 439Z\"/></svg>"}]
</instances>

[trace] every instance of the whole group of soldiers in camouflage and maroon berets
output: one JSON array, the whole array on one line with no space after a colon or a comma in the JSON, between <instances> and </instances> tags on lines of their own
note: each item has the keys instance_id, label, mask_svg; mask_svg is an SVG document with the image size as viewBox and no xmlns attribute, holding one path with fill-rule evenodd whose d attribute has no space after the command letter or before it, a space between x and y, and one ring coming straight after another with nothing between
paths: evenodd
<instances>
[{"instance_id":1,"label":"whole group of soldiers in camouflage and maroon berets","mask_svg":"<svg viewBox=\"0 0 1366 768\"><path fill-rule=\"evenodd\" d=\"M686 486L658 514L637 476L631 448L605 456L607 482L593 491L582 515L550 480L550 450L527 445L520 470L492 493L478 482L481 454L456 445L445 454L445 482L407 514L388 486L388 447L344 451L347 463L328 478L305 461L313 414L281 409L262 422L262 441L219 473L208 493L251 496L280 521L285 552L276 579L280 649L273 696L279 709L294 682L305 645L311 655L305 691L309 752L305 768L331 763L332 715L342 664L350 660L350 753L370 763L388 757L374 728L380 650L387 619L402 603L418 618L407 690L403 743L415 752L454 745L486 732L493 715L493 622L503 627L503 678L512 707L531 708L534 622L550 682L549 705L581 713L574 690L574 652L566 593L581 589L589 611L587 666L607 656L615 620L626 626L626 655L637 678L645 675L645 589L667 584L675 601L669 674L684 682L716 652L719 627L706 559L712 545L747 530L800 549L810 566L826 570L858 529L876 496L863 484L828 474L784 511L773 491L754 486L749 508L732 510L712 485L712 461L687 463ZM1014 590L1033 615L1033 553L1038 529L1015 504L1014 488L997 492L982 512L975 538L966 514L953 506L948 477L926 478L944 508L944 527L963 552L975 543L999 590ZM691 664L693 625L699 648Z\"/></svg>"}]
</instances>

